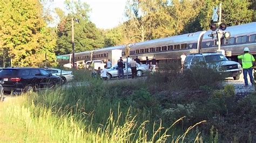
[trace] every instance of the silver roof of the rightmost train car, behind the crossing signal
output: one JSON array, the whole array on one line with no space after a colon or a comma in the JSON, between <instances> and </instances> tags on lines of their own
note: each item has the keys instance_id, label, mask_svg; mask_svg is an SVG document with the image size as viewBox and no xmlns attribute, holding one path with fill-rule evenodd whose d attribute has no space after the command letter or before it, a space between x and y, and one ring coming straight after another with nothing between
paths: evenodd
<instances>
[{"instance_id":1,"label":"silver roof of the rightmost train car, behind the crossing signal","mask_svg":"<svg viewBox=\"0 0 256 143\"><path fill-rule=\"evenodd\" d=\"M256 33L256 22L253 23L247 23L247 24L241 24L241 25L235 25L227 27L225 31L228 31L231 33L231 37L237 37L241 34L250 34L250 33ZM203 39L212 39L212 37L208 37L209 34L211 34L213 31L208 30L205 34ZM216 32L216 31L215 31Z\"/></svg>"}]
</instances>

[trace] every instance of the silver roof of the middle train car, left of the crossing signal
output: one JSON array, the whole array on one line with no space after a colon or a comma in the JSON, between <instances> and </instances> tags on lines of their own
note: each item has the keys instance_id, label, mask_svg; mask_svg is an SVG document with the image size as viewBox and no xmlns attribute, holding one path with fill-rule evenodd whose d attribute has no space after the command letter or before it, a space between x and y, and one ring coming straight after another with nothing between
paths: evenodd
<instances>
[{"instance_id":1,"label":"silver roof of the middle train car, left of the crossing signal","mask_svg":"<svg viewBox=\"0 0 256 143\"><path fill-rule=\"evenodd\" d=\"M135 44L131 44L131 47L144 47L144 46L149 46L149 45L150 45L150 47L151 46L156 47L157 45L168 45L168 44L176 44L176 43L182 44L187 41L197 41L201 32L203 32L203 31L187 33L187 34L182 34L182 35L174 35L171 37L148 40L148 41L144 41L144 42L137 42Z\"/></svg>"}]
</instances>

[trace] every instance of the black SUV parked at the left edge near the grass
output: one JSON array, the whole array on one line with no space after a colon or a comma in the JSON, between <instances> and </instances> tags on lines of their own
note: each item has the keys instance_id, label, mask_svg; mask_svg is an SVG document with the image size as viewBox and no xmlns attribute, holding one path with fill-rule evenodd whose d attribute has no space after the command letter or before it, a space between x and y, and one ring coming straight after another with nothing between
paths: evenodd
<instances>
[{"instance_id":1,"label":"black SUV parked at the left edge near the grass","mask_svg":"<svg viewBox=\"0 0 256 143\"><path fill-rule=\"evenodd\" d=\"M60 77L41 68L3 68L0 70L0 84L6 93L51 88L60 82Z\"/></svg>"}]
</instances>

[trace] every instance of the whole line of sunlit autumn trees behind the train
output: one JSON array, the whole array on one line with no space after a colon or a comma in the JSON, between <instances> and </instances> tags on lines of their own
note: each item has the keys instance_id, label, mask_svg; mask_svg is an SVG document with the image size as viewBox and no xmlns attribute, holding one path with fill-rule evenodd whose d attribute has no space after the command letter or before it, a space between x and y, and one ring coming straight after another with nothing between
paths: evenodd
<instances>
[{"instance_id":1,"label":"whole line of sunlit autumn trees behind the train","mask_svg":"<svg viewBox=\"0 0 256 143\"><path fill-rule=\"evenodd\" d=\"M210 0L127 0L127 19L109 30L96 27L88 13L90 7L80 1L65 1L65 12L54 10L55 20L44 0L0 0L0 66L55 66L56 55L69 54L71 18L75 19L75 51L82 52L171 35L208 30L212 7L223 3L222 21L228 26L256 21L256 2Z\"/></svg>"}]
</instances>

